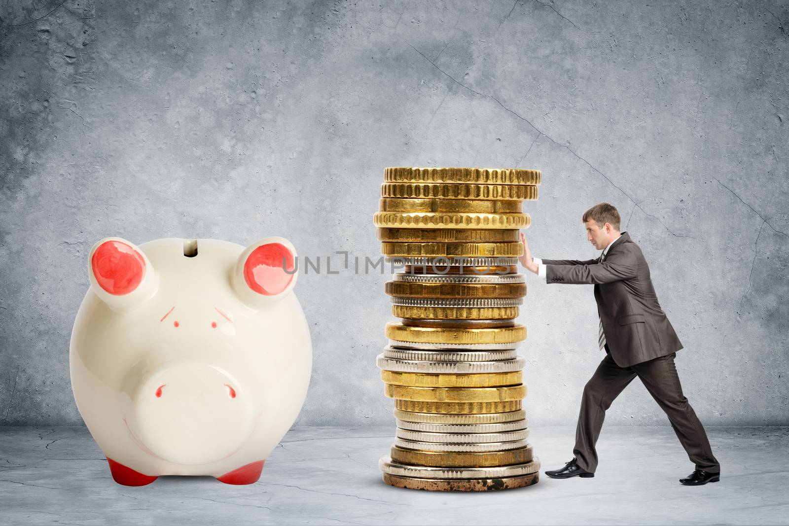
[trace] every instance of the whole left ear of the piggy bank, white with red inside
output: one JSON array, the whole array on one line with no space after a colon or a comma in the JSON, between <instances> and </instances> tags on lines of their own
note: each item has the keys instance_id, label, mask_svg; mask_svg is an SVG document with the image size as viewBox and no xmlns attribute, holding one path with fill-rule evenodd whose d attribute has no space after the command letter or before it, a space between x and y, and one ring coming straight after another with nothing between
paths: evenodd
<instances>
[{"instance_id":1,"label":"whole left ear of the piggy bank, white with red inside","mask_svg":"<svg viewBox=\"0 0 789 526\"><path fill-rule=\"evenodd\" d=\"M105 237L91 248L91 288L114 311L125 311L148 300L158 280L145 253L121 237Z\"/></svg>"}]
</instances>

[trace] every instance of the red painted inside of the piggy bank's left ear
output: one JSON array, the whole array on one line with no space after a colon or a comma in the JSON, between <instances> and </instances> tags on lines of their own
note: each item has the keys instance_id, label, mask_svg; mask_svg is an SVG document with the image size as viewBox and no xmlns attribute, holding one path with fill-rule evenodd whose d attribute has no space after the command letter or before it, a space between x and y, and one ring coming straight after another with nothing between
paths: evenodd
<instances>
[{"instance_id":1,"label":"red painted inside of the piggy bank's left ear","mask_svg":"<svg viewBox=\"0 0 789 526\"><path fill-rule=\"evenodd\" d=\"M122 296L133 292L145 276L145 259L122 241L105 241L95 249L91 270L107 293Z\"/></svg>"}]
</instances>

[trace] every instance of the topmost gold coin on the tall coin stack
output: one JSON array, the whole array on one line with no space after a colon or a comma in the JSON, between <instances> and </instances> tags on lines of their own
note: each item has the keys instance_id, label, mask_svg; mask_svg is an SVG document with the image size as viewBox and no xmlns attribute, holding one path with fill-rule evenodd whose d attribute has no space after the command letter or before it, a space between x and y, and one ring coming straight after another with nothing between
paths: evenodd
<instances>
[{"instance_id":1,"label":"topmost gold coin on the tall coin stack","mask_svg":"<svg viewBox=\"0 0 789 526\"><path fill-rule=\"evenodd\" d=\"M484 185L540 185L540 170L519 168L419 168L392 167L383 171L388 182L476 183Z\"/></svg>"}]
</instances>

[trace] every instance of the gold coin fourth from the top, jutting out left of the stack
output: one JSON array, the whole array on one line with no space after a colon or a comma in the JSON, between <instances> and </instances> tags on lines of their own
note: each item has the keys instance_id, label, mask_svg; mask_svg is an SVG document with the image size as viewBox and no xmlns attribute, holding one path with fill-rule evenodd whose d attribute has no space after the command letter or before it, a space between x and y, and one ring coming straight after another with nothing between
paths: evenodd
<instances>
[{"instance_id":1,"label":"gold coin fourth from the top, jutting out left of the stack","mask_svg":"<svg viewBox=\"0 0 789 526\"><path fill-rule=\"evenodd\" d=\"M527 228L532 218L528 214L376 212L372 222L380 228L521 229Z\"/></svg>"}]
</instances>

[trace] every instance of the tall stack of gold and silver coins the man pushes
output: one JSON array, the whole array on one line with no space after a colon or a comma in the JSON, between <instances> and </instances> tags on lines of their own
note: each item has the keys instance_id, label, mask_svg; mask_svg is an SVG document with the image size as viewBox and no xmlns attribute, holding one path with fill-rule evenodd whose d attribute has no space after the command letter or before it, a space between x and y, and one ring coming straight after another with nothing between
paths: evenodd
<instances>
[{"instance_id":1,"label":"tall stack of gold and silver coins the man pushes","mask_svg":"<svg viewBox=\"0 0 789 526\"><path fill-rule=\"evenodd\" d=\"M489 491L537 483L522 399L526 294L518 274L523 200L539 170L387 168L378 227L387 263L389 345L377 358L394 398L397 435L383 481L431 491Z\"/></svg>"}]
</instances>

